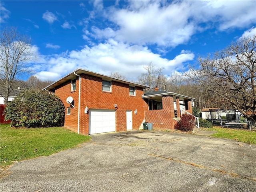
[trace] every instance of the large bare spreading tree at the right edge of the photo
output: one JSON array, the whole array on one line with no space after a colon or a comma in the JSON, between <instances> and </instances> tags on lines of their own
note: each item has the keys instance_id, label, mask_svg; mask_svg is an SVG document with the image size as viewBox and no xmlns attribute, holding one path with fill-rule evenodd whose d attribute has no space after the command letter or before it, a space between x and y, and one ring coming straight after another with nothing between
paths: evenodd
<instances>
[{"instance_id":1,"label":"large bare spreading tree at the right edge of the photo","mask_svg":"<svg viewBox=\"0 0 256 192\"><path fill-rule=\"evenodd\" d=\"M199 70L186 73L194 82L256 121L256 36L244 37L212 58L198 58ZM221 99L220 99L221 98Z\"/></svg>"}]
</instances>

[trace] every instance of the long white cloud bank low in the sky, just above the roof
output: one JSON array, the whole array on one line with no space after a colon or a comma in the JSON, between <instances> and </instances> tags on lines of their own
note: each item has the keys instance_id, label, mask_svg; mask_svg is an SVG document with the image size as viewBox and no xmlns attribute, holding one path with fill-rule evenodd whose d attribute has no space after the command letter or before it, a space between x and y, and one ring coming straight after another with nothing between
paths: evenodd
<instances>
[{"instance_id":1,"label":"long white cloud bank low in the sky, just above the roof","mask_svg":"<svg viewBox=\"0 0 256 192\"><path fill-rule=\"evenodd\" d=\"M161 58L159 54L152 53L147 47L130 46L117 42L113 39L96 46L85 46L82 50L65 52L62 55L55 55L45 58L45 70L51 72L44 77L45 73L38 73L42 79L50 78L56 80L50 74L64 76L70 71L80 67L101 74L110 74L118 71L126 75L129 80L137 80L137 77L144 71L144 66L152 62L156 67L164 67L166 74L173 70L183 68L183 64L193 60L194 54L182 50L173 60ZM58 76L59 78L59 76Z\"/></svg>"}]
</instances>

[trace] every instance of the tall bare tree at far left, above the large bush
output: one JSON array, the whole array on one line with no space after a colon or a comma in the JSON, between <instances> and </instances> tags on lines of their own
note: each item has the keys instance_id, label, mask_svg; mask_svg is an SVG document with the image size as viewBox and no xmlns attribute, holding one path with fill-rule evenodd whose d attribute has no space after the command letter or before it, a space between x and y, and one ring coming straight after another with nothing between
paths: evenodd
<instances>
[{"instance_id":1,"label":"tall bare tree at far left, above the large bush","mask_svg":"<svg viewBox=\"0 0 256 192\"><path fill-rule=\"evenodd\" d=\"M8 102L10 92L14 89L13 83L30 69L26 64L33 59L33 50L30 38L18 33L14 27L5 28L1 33L0 65L1 86L4 86L5 103Z\"/></svg>"}]
</instances>

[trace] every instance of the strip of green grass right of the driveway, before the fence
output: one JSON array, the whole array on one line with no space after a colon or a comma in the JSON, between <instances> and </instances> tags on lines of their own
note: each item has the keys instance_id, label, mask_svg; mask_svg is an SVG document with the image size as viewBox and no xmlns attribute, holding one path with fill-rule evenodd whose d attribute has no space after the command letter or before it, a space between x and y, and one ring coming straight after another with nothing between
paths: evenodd
<instances>
[{"instance_id":1,"label":"strip of green grass right of the driveway, before the fence","mask_svg":"<svg viewBox=\"0 0 256 192\"><path fill-rule=\"evenodd\" d=\"M204 130L217 131L212 134L212 137L234 139L248 144L256 144L256 132L245 129L231 129L231 128L204 128Z\"/></svg>"}]
</instances>

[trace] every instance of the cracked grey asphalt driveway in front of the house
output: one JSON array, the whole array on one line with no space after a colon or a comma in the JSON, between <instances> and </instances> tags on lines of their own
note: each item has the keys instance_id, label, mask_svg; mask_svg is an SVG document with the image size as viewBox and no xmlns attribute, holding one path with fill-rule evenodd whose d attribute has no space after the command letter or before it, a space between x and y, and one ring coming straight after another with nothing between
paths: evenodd
<instances>
[{"instance_id":1,"label":"cracked grey asphalt driveway in front of the house","mask_svg":"<svg viewBox=\"0 0 256 192\"><path fill-rule=\"evenodd\" d=\"M9 171L2 192L254 192L256 146L183 133L98 134Z\"/></svg>"}]
</instances>

